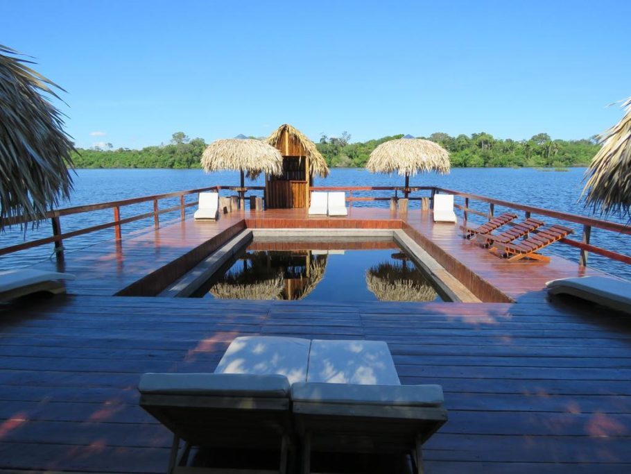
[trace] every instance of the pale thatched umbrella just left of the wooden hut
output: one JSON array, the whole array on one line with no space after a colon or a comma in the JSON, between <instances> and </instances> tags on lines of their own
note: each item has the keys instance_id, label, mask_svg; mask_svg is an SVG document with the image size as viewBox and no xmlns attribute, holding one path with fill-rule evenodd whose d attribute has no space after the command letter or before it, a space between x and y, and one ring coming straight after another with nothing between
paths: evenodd
<instances>
[{"instance_id":1,"label":"pale thatched umbrella just left of the wooden hut","mask_svg":"<svg viewBox=\"0 0 631 474\"><path fill-rule=\"evenodd\" d=\"M273 146L252 138L227 138L209 144L202 154L202 168L210 171L241 171L256 178L260 173L279 174L283 170L283 157Z\"/></svg>"}]
</instances>

